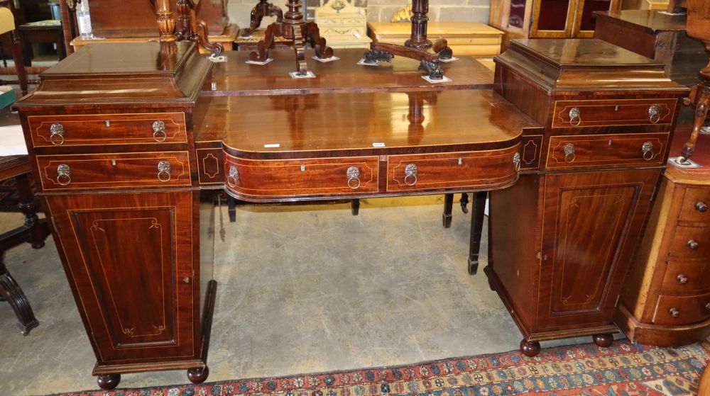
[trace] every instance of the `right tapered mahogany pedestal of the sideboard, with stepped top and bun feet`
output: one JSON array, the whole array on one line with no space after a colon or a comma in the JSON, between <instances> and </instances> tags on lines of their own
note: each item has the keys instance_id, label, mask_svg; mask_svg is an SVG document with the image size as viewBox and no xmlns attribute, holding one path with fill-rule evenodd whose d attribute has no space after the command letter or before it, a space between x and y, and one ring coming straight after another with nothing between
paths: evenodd
<instances>
[{"instance_id":1,"label":"right tapered mahogany pedestal of the sideboard, with stepped top and bun feet","mask_svg":"<svg viewBox=\"0 0 710 396\"><path fill-rule=\"evenodd\" d=\"M523 175L492 191L485 268L523 332L608 346L624 276L689 89L663 65L601 40L514 40L494 90L538 123Z\"/></svg>"}]
</instances>

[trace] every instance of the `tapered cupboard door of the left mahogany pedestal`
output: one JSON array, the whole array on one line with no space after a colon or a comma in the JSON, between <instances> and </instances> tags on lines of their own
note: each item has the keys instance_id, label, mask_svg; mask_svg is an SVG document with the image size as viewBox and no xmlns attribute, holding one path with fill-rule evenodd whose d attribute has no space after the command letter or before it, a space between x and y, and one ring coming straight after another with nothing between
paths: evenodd
<instances>
[{"instance_id":1,"label":"tapered cupboard door of the left mahogany pedestal","mask_svg":"<svg viewBox=\"0 0 710 396\"><path fill-rule=\"evenodd\" d=\"M99 362L194 356L192 193L46 200Z\"/></svg>"}]
</instances>

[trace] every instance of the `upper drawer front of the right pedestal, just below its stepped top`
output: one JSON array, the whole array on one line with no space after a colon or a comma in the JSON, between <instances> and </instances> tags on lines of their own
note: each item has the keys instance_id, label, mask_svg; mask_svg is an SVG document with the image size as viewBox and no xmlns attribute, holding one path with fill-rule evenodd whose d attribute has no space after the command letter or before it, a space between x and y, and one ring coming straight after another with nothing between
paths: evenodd
<instances>
[{"instance_id":1,"label":"upper drawer front of the right pedestal, just below its stepped top","mask_svg":"<svg viewBox=\"0 0 710 396\"><path fill-rule=\"evenodd\" d=\"M676 103L677 99L556 101L552 128L670 124Z\"/></svg>"}]
</instances>

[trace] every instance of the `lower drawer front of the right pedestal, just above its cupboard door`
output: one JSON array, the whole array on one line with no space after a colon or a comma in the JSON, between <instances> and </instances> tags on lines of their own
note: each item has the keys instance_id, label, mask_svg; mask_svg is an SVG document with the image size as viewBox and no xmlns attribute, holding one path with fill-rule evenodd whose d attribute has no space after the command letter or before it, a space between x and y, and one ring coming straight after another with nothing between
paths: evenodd
<instances>
[{"instance_id":1,"label":"lower drawer front of the right pedestal, just above its cupboard door","mask_svg":"<svg viewBox=\"0 0 710 396\"><path fill-rule=\"evenodd\" d=\"M667 133L552 136L547 169L662 164Z\"/></svg>"}]
</instances>

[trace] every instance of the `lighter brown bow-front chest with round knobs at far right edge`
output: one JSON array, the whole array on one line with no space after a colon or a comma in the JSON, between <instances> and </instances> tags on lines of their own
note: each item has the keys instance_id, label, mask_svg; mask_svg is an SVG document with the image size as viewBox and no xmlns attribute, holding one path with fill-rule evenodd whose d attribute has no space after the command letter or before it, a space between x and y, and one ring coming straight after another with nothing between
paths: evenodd
<instances>
[{"instance_id":1,"label":"lighter brown bow-front chest with round knobs at far right edge","mask_svg":"<svg viewBox=\"0 0 710 396\"><path fill-rule=\"evenodd\" d=\"M686 139L677 133L671 153ZM618 302L616 323L634 342L679 346L710 336L710 136L697 145L692 159L702 168L666 169Z\"/></svg>"}]
</instances>

